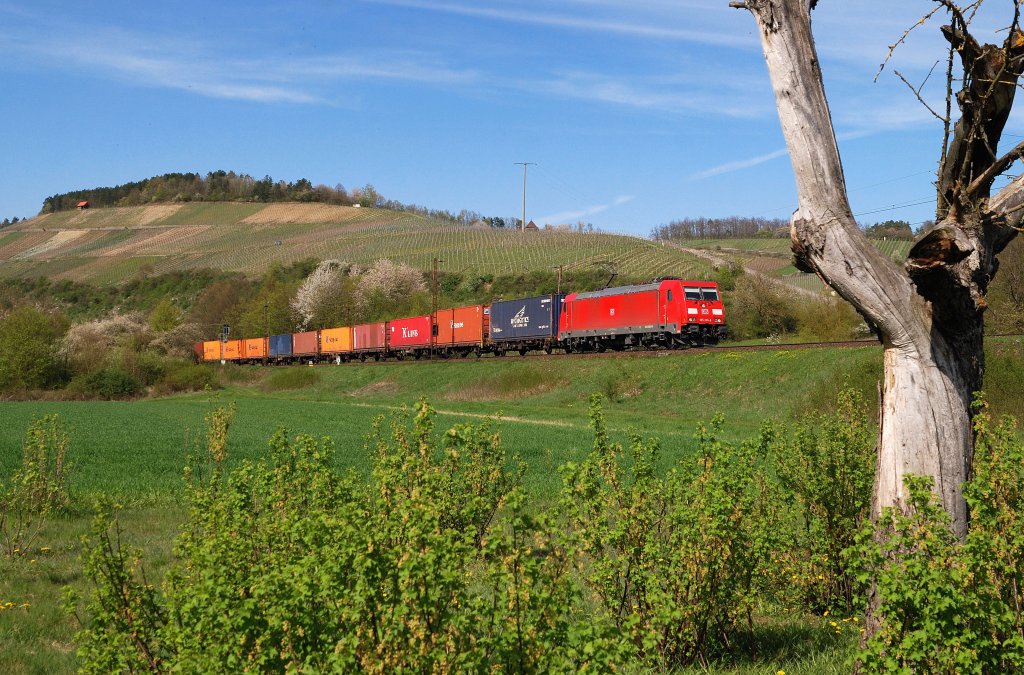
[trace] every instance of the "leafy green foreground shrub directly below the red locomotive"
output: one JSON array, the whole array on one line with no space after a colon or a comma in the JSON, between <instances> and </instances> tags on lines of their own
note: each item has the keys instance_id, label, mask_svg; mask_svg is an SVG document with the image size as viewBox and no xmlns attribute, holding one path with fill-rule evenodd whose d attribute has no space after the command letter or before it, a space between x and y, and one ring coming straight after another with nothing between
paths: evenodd
<instances>
[{"instance_id":1,"label":"leafy green foreground shrub directly below the red locomotive","mask_svg":"<svg viewBox=\"0 0 1024 675\"><path fill-rule=\"evenodd\" d=\"M652 665L707 663L749 619L776 545L759 446L722 441L719 417L698 430L696 461L659 478L656 441L634 436L624 457L599 403L591 402L593 452L563 468L560 509L580 574L602 616Z\"/></svg>"}]
</instances>

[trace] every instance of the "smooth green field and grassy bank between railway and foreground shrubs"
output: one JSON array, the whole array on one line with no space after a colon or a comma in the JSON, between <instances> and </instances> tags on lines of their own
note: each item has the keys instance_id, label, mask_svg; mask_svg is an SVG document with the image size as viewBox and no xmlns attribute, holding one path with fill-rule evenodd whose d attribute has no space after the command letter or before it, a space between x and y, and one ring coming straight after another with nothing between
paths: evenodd
<instances>
[{"instance_id":1,"label":"smooth green field and grassy bank between railway and foreground shrubs","mask_svg":"<svg viewBox=\"0 0 1024 675\"><path fill-rule=\"evenodd\" d=\"M878 347L864 347L349 364L313 369L318 381L294 391L267 393L249 385L214 396L131 403L6 403L0 469L5 474L13 469L32 417L56 413L74 441L78 494L108 492L127 499L172 495L180 487L184 456L204 415L215 402L234 402L229 446L234 460L262 456L270 435L285 426L331 436L342 466L366 471L370 458L364 439L373 419L411 410L426 395L438 411L438 427L503 416L499 428L505 447L523 457L527 486L547 499L558 488L554 469L590 448L587 411L593 392L609 398L606 416L618 439L627 439L629 428L656 436L669 463L689 451L695 426L716 413L726 416L733 438L754 435L763 419L787 417L828 399L843 379L837 372L872 379L880 357ZM258 367L248 370L267 373Z\"/></svg>"}]
</instances>

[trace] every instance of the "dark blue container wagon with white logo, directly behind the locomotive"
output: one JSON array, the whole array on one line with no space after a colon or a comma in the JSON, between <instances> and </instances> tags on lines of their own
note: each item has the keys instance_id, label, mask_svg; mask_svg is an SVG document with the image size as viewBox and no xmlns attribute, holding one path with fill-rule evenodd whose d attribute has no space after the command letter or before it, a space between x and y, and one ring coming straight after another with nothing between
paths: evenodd
<instances>
[{"instance_id":1,"label":"dark blue container wagon with white logo, directly behind the locomotive","mask_svg":"<svg viewBox=\"0 0 1024 675\"><path fill-rule=\"evenodd\" d=\"M531 350L551 353L558 346L558 318L564 294L490 303L490 348L498 356Z\"/></svg>"}]
</instances>

